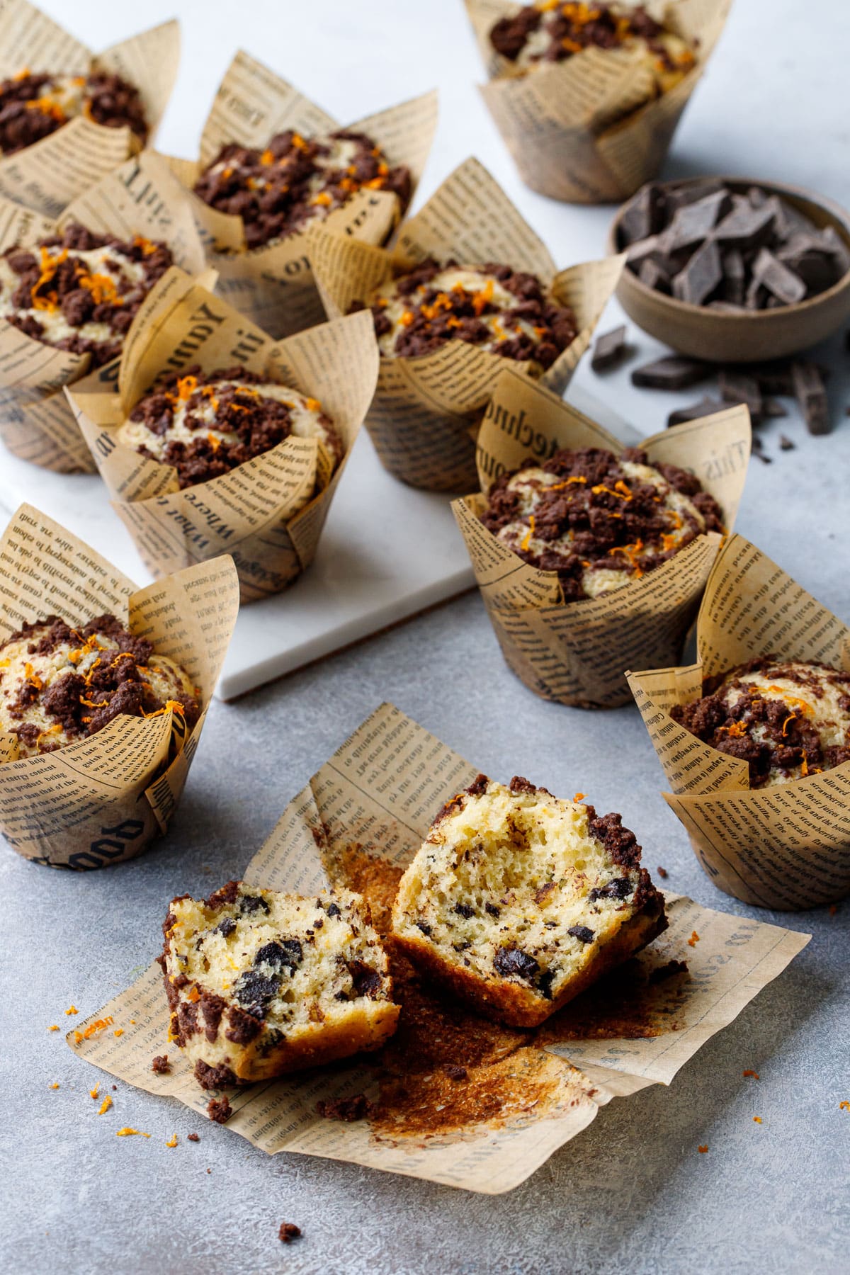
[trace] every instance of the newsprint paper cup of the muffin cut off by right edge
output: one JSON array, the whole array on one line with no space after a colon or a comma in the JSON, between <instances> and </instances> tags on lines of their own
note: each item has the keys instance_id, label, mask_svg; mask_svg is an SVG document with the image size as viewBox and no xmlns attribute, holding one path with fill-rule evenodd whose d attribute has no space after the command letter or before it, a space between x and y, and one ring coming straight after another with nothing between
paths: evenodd
<instances>
[{"instance_id":1,"label":"newsprint paper cup of the muffin cut off by right edge","mask_svg":"<svg viewBox=\"0 0 850 1275\"><path fill-rule=\"evenodd\" d=\"M627 673L693 853L714 884L757 908L796 912L850 892L850 761L751 790L747 762L674 722L702 681L756 655L850 671L850 629L742 536L724 546L697 620L697 663Z\"/></svg>"}]
</instances>

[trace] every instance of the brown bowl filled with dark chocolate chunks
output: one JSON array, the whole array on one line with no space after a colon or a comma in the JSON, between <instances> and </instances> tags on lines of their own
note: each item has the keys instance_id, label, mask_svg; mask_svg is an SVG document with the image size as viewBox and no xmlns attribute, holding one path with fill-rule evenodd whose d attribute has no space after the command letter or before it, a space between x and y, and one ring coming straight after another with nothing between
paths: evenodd
<instances>
[{"instance_id":1,"label":"brown bowl filled with dark chocolate chunks","mask_svg":"<svg viewBox=\"0 0 850 1275\"><path fill-rule=\"evenodd\" d=\"M795 186L743 177L649 182L617 213L617 297L683 354L794 354L850 316L850 213Z\"/></svg>"}]
</instances>

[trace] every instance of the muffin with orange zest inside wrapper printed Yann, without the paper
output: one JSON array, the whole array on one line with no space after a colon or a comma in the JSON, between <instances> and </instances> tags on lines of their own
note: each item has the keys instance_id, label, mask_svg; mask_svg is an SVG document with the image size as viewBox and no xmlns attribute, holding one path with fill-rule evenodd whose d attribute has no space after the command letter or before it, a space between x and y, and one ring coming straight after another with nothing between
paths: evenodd
<instances>
[{"instance_id":1,"label":"muffin with orange zest inside wrapper printed Yann, without the paper","mask_svg":"<svg viewBox=\"0 0 850 1275\"><path fill-rule=\"evenodd\" d=\"M181 487L229 473L291 435L319 439L335 468L343 440L317 399L264 381L246 367L190 367L147 394L119 441L172 465Z\"/></svg>"}]
</instances>

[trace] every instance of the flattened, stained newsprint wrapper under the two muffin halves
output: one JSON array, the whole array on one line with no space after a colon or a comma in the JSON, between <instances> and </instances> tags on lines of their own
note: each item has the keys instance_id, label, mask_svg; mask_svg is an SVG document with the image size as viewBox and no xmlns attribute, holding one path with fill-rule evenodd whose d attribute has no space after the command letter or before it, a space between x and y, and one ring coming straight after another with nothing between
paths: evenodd
<instances>
[{"instance_id":1,"label":"flattened, stained newsprint wrapper under the two muffin halves","mask_svg":"<svg viewBox=\"0 0 850 1275\"><path fill-rule=\"evenodd\" d=\"M385 931L398 878L433 816L477 773L477 766L385 704L289 802L245 880L305 895L329 884L352 882L371 903L376 928ZM180 887L178 880L175 887ZM353 1058L333 1068L229 1091L233 1114L228 1128L269 1154L320 1155L486 1195L512 1190L586 1128L612 1096L627 1096L652 1084L669 1085L809 938L711 912L682 896L668 895L665 905L670 928L628 966L638 972L638 993L624 969L622 982L605 982L604 994L598 984L599 991L591 989L537 1031L482 1024L435 993L429 1002L436 1009L432 1033L426 1020L422 1035L417 1038L414 1031L405 1047L408 1011L403 1009L390 1057L385 1056L382 1065L380 1057L377 1066ZM695 929L700 941L689 946ZM689 974L645 986L646 977L670 960L687 960ZM440 1006L445 1006L442 1017ZM98 1029L96 1024L103 1019L111 1024ZM115 1028L122 1028L121 1037L113 1034ZM473 1065L463 1049L468 1040L480 1042L482 1031L494 1061ZM127 1084L178 1098L199 1116L205 1112L209 1093L199 1089L191 1067L168 1043L168 1007L155 963L96 1015L76 1024L66 1039L80 1057ZM415 1048L418 1039L424 1062ZM442 1074L443 1042L455 1051L443 1056L445 1062L465 1062L466 1079ZM166 1074L150 1067L153 1054L161 1053L168 1054ZM503 1086L516 1093L515 1109L503 1118L488 1118L482 1095L491 1102L494 1098L498 1108ZM399 1090L408 1090L407 1099ZM376 1100L377 1112L368 1119L344 1123L316 1116L319 1100L354 1094ZM424 1136L405 1126L404 1118L400 1123L394 1119L417 1103L435 1119ZM440 1104L445 1104L442 1111ZM646 1136L651 1137L651 1130Z\"/></svg>"}]
</instances>

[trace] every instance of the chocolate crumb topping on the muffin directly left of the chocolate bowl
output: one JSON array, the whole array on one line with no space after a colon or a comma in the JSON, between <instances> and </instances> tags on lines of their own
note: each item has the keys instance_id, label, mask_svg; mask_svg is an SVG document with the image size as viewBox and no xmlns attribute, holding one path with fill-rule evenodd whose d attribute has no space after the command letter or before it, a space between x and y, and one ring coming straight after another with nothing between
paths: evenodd
<instances>
[{"instance_id":1,"label":"chocolate crumb topping on the muffin directly left of the chocolate bowl","mask_svg":"<svg viewBox=\"0 0 850 1275\"><path fill-rule=\"evenodd\" d=\"M488 316L498 316L506 330L505 339L496 347L502 358L517 362L531 360L547 368L575 340L579 329L572 310L552 301L537 275L512 270L510 265L488 261L474 266L477 272L497 279L517 298L519 303L510 309L502 309L497 301L488 297L486 289L469 292L457 287L445 292L428 287L437 274L457 265L454 259L440 265L428 258L415 270L396 279L398 293L409 298L409 303L404 311L403 329L395 338L395 354L409 358L429 354L447 340L465 340L470 346L483 346L493 340L493 330L484 321ZM422 287L424 292L417 293ZM371 310L376 335L380 338L391 332L393 324L380 298ZM517 319L529 323L534 328L535 337L521 330L516 325Z\"/></svg>"}]
</instances>

